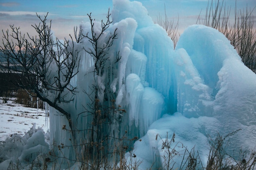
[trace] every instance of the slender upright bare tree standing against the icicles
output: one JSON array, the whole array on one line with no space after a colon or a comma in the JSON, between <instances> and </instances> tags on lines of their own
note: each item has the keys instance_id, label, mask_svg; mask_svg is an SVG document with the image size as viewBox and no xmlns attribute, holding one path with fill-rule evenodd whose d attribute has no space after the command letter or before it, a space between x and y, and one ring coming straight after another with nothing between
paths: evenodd
<instances>
[{"instance_id":1,"label":"slender upright bare tree standing against the icicles","mask_svg":"<svg viewBox=\"0 0 256 170\"><path fill-rule=\"evenodd\" d=\"M83 33L82 30L76 36L77 41L83 40L89 42L90 45L84 46L83 49L94 60L92 92L90 94L85 92L92 102L88 103L84 108L86 110L85 113L92 117L90 143L92 142L93 145L90 146L90 155L97 157L97 162L94 161L94 164L98 166L103 159L106 159L109 153L113 154L112 150L108 148L111 143L109 138L116 138L119 140L119 143L123 139L123 137L114 137L114 135L111 135L110 130L111 124L116 122L114 121L114 119L117 119L116 115L125 112L121 108L116 108L115 97L117 94L112 93L109 88L112 79L110 78L112 76L111 69L118 67L118 62L121 59L119 52L116 52L114 54L115 60L111 61L110 55L113 54L110 53L110 49L113 48L113 44L117 39L117 28L113 29L113 32L107 32L112 23L110 21L110 15L110 11L108 10L106 22L101 20L100 26L97 26L91 13L88 14L91 26L90 32Z\"/></svg>"}]
</instances>

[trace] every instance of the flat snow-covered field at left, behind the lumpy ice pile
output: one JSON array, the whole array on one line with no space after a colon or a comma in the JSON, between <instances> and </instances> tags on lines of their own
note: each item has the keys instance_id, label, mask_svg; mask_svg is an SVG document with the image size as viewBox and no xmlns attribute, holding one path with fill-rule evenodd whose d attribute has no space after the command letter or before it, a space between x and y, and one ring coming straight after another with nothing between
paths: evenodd
<instances>
[{"instance_id":1,"label":"flat snow-covered field at left, behind the lumpy ice pile","mask_svg":"<svg viewBox=\"0 0 256 170\"><path fill-rule=\"evenodd\" d=\"M4 141L14 133L24 135L33 124L36 124L36 128L41 127L47 132L49 119L45 117L45 110L28 108L11 102L0 104L0 141Z\"/></svg>"}]
</instances>

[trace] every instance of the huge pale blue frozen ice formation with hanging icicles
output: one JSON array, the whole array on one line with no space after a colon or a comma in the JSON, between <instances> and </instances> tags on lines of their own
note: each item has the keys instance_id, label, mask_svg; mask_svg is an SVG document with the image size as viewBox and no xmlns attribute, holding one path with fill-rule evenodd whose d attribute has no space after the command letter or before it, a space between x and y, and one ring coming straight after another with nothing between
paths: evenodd
<instances>
[{"instance_id":1,"label":"huge pale blue frozen ice formation with hanging icicles","mask_svg":"<svg viewBox=\"0 0 256 170\"><path fill-rule=\"evenodd\" d=\"M140 137L133 152L142 161L141 169L166 163L162 141L167 133L171 140L175 132L174 146L183 145L188 150L195 146L203 163L209 152L209 136L214 138L218 132L227 135L241 129L230 137L229 152L256 146L256 74L241 62L222 33L202 25L190 26L174 50L171 38L154 24L140 2L113 0L111 13L113 22L99 45L106 45L108 35L116 28L118 38L100 74L94 73L95 59L82 50L92 49L88 40L74 42L81 60L72 86L79 93L73 101L61 105L72 113L70 120L50 108L52 144L79 145L90 138L91 104L96 93L93 86L97 86L96 95L102 105L126 110L124 114L106 114L109 123L101 129L102 134L118 138L127 130L128 137ZM99 29L96 33L101 31L101 23L95 22L94 26ZM90 23L80 28L84 35L91 31ZM63 130L63 125L69 129L68 121L75 130L73 136ZM114 142L112 138L109 142ZM184 152L184 148L178 148ZM83 148L66 147L59 156L72 160L78 152Z\"/></svg>"}]
</instances>

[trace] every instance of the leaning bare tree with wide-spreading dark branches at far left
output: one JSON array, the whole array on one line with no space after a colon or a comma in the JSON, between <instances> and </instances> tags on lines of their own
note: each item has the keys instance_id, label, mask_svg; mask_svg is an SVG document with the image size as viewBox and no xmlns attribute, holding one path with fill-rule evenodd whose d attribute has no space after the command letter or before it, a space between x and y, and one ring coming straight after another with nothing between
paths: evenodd
<instances>
[{"instance_id":1,"label":"leaning bare tree with wide-spreading dark branches at far left","mask_svg":"<svg viewBox=\"0 0 256 170\"><path fill-rule=\"evenodd\" d=\"M79 51L74 50L73 41L53 38L51 22L49 25L46 22L47 15L37 16L40 23L32 25L36 36L31 37L28 33L25 36L20 27L13 25L10 31L2 30L0 51L4 60L0 68L4 73L18 73L20 79L16 79L16 83L20 88L34 91L37 97L69 120L70 113L62 104L72 101L76 92L70 81L79 71ZM72 122L69 122L72 129Z\"/></svg>"}]
</instances>

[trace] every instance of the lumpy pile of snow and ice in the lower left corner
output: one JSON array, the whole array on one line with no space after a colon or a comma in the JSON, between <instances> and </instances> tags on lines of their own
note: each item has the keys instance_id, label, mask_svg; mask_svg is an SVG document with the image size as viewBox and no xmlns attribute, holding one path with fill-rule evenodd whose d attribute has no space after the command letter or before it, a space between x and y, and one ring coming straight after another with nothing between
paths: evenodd
<instances>
[{"instance_id":1,"label":"lumpy pile of snow and ice in the lower left corner","mask_svg":"<svg viewBox=\"0 0 256 170\"><path fill-rule=\"evenodd\" d=\"M36 129L36 124L25 132L25 135L12 134L4 142L0 143L0 170L6 170L12 163L24 162L38 164L44 162L45 155L49 153L49 132L45 133L42 128ZM22 166L24 166L22 164ZM8 168L9 167L9 168ZM18 166L17 166L18 167ZM24 166L26 169L29 166Z\"/></svg>"}]
</instances>

